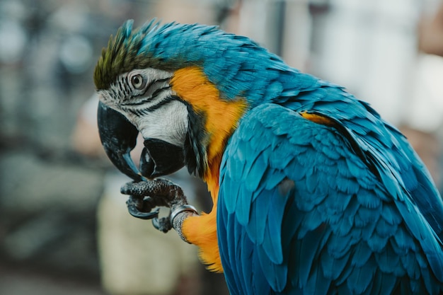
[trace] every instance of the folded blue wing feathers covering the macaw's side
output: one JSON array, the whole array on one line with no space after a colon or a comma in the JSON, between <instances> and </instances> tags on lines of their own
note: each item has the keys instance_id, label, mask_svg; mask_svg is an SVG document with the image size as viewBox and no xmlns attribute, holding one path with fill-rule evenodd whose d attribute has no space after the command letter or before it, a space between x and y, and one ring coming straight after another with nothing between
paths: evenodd
<instances>
[{"instance_id":1,"label":"folded blue wing feathers covering the macaw's side","mask_svg":"<svg viewBox=\"0 0 443 295\"><path fill-rule=\"evenodd\" d=\"M257 106L226 146L217 226L228 226L218 237L231 294L439 294L442 209L420 160L397 150L410 149L403 137L376 113L374 130L355 123L362 138L344 112L346 124L325 126L297 111Z\"/></svg>"}]
</instances>

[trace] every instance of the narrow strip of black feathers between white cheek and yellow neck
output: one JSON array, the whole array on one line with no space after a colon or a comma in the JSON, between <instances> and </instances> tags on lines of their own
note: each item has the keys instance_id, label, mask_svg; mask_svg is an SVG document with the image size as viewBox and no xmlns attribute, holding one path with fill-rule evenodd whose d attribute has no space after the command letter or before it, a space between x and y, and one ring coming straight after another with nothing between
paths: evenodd
<instances>
[{"instance_id":1,"label":"narrow strip of black feathers between white cheek and yellow neck","mask_svg":"<svg viewBox=\"0 0 443 295\"><path fill-rule=\"evenodd\" d=\"M202 112L195 112L189 103L185 101L183 103L188 108L188 136L184 146L185 165L188 167L189 173L201 177L207 168L205 144L207 139L207 132L205 131L206 116Z\"/></svg>"}]
</instances>

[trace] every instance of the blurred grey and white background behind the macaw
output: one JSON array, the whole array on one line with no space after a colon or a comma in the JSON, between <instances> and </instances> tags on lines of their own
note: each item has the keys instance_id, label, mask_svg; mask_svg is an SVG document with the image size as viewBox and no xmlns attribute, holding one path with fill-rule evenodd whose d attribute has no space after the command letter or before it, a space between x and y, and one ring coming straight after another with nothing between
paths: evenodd
<instances>
[{"instance_id":1,"label":"blurred grey and white background behind the macaw","mask_svg":"<svg viewBox=\"0 0 443 295\"><path fill-rule=\"evenodd\" d=\"M348 88L441 189L441 0L0 0L0 294L228 294L176 233L126 212L92 72L127 18L217 24ZM137 153L134 154L137 156ZM173 178L208 211L204 185Z\"/></svg>"}]
</instances>

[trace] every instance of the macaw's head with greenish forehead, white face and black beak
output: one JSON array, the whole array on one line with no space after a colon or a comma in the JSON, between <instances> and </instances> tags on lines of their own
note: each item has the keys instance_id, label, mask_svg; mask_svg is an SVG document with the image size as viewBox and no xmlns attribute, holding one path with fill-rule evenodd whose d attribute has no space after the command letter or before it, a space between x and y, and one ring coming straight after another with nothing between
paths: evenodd
<instances>
[{"instance_id":1,"label":"macaw's head with greenish forehead, white face and black beak","mask_svg":"<svg viewBox=\"0 0 443 295\"><path fill-rule=\"evenodd\" d=\"M242 95L248 88L231 80L240 70L234 52L241 53L243 37L205 25L151 21L133 30L132 23L110 37L94 71L103 147L136 181L183 166L207 175L249 105ZM137 168L130 151L139 133Z\"/></svg>"}]
</instances>

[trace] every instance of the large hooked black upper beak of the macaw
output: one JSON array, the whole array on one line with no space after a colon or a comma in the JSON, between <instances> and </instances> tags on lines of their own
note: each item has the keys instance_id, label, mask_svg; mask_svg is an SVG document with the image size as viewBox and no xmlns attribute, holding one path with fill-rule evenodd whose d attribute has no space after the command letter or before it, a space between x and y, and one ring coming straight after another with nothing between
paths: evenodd
<instances>
[{"instance_id":1,"label":"large hooked black upper beak of the macaw","mask_svg":"<svg viewBox=\"0 0 443 295\"><path fill-rule=\"evenodd\" d=\"M130 151L137 144L137 128L120 112L101 101L98 103L97 122L101 143L114 166L136 182L144 180L130 156Z\"/></svg>"}]
</instances>

